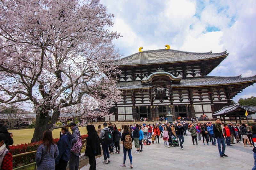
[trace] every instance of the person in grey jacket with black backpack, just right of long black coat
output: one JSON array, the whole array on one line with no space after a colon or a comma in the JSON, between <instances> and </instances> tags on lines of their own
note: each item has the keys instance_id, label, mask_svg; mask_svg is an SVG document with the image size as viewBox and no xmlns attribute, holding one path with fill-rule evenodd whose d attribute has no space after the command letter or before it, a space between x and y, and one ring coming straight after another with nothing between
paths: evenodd
<instances>
[{"instance_id":1,"label":"person in grey jacket with black backpack, just right of long black coat","mask_svg":"<svg viewBox=\"0 0 256 170\"><path fill-rule=\"evenodd\" d=\"M109 148L109 145L112 143L111 141L108 142L108 140L105 139L105 133L110 133L110 136L113 137L112 131L107 127L106 122L103 123L103 129L101 129L100 131L100 141L101 141L103 157L104 157L103 164L110 163L108 148Z\"/></svg>"}]
</instances>

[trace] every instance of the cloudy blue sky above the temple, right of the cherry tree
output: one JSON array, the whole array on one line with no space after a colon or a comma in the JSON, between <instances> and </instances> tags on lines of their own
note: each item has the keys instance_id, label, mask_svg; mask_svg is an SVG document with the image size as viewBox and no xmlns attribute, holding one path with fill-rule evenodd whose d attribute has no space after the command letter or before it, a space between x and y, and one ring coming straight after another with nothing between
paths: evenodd
<instances>
[{"instance_id":1,"label":"cloudy blue sky above the temple, right of the cherry tree","mask_svg":"<svg viewBox=\"0 0 256 170\"><path fill-rule=\"evenodd\" d=\"M256 74L256 1L196 0L102 0L113 13L113 31L123 37L114 40L125 57L143 50L171 49L218 53L228 57L209 75L254 76ZM256 96L247 87L233 100Z\"/></svg>"}]
</instances>

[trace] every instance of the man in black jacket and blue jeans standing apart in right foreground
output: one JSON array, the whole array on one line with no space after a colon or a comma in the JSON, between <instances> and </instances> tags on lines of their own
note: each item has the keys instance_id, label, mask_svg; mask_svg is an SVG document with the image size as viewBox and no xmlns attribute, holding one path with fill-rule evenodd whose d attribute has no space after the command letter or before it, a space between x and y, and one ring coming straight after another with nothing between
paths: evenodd
<instances>
[{"instance_id":1,"label":"man in black jacket and blue jeans standing apart in right foreground","mask_svg":"<svg viewBox=\"0 0 256 170\"><path fill-rule=\"evenodd\" d=\"M227 155L225 155L226 145L225 145L224 136L222 134L219 118L215 119L215 124L213 124L212 127L213 127L213 133L215 135L215 138L217 139L220 158L228 157ZM222 150L221 150L221 145L222 145Z\"/></svg>"}]
</instances>

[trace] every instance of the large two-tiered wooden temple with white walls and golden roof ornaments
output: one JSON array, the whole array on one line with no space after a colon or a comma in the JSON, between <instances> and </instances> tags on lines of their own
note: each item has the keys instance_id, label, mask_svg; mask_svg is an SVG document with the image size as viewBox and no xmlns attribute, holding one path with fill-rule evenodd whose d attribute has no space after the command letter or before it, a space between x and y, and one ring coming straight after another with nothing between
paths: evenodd
<instances>
[{"instance_id":1,"label":"large two-tiered wooden temple with white walls and golden roof ornaments","mask_svg":"<svg viewBox=\"0 0 256 170\"><path fill-rule=\"evenodd\" d=\"M111 119L138 120L159 116L212 118L214 112L231 104L231 99L256 82L252 77L208 76L227 56L167 48L142 51L115 62L122 73L116 86L122 100L113 103Z\"/></svg>"}]
</instances>

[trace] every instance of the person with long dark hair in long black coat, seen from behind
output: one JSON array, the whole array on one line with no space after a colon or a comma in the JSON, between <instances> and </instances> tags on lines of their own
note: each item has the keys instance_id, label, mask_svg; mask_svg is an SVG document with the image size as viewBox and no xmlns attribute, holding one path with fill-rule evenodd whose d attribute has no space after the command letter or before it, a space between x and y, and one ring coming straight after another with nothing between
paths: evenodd
<instances>
[{"instance_id":1,"label":"person with long dark hair in long black coat, seen from behind","mask_svg":"<svg viewBox=\"0 0 256 170\"><path fill-rule=\"evenodd\" d=\"M89 170L96 170L95 156L101 155L100 138L95 130L94 125L87 125L86 129L88 137L86 138L87 142L84 156L88 156L89 158Z\"/></svg>"}]
</instances>

